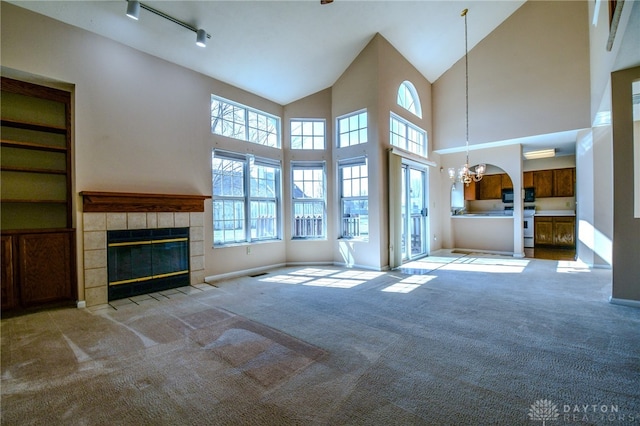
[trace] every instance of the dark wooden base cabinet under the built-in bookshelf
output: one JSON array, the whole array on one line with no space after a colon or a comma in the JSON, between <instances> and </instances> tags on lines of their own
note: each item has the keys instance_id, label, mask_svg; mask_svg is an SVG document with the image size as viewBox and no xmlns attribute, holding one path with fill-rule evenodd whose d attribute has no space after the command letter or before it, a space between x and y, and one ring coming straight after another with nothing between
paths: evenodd
<instances>
[{"instance_id":1,"label":"dark wooden base cabinet under the built-in bookshelf","mask_svg":"<svg viewBox=\"0 0 640 426\"><path fill-rule=\"evenodd\" d=\"M76 299L75 231L61 229L2 235L2 309Z\"/></svg>"}]
</instances>

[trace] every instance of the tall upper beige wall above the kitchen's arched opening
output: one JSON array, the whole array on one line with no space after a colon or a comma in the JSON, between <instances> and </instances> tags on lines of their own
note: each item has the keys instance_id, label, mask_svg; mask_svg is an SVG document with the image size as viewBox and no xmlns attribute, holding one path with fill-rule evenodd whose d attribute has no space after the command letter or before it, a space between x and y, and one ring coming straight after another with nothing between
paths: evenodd
<instances>
[{"instance_id":1,"label":"tall upper beige wall above the kitchen's arched opening","mask_svg":"<svg viewBox=\"0 0 640 426\"><path fill-rule=\"evenodd\" d=\"M590 126L587 20L586 2L529 1L469 52L471 145ZM433 84L435 149L464 144L464 102L463 58Z\"/></svg>"}]
</instances>

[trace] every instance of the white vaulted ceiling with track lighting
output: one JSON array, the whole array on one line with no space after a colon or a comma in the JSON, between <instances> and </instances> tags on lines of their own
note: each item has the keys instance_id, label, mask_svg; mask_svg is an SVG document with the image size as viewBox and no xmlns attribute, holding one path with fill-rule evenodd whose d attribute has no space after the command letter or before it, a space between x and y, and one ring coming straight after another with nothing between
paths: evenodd
<instances>
[{"instance_id":1,"label":"white vaulted ceiling with track lighting","mask_svg":"<svg viewBox=\"0 0 640 426\"><path fill-rule=\"evenodd\" d=\"M376 33L434 82L464 55L464 8L471 49L524 1L143 2L205 29L204 49L147 10L128 18L124 0L10 3L286 105L332 86Z\"/></svg>"}]
</instances>

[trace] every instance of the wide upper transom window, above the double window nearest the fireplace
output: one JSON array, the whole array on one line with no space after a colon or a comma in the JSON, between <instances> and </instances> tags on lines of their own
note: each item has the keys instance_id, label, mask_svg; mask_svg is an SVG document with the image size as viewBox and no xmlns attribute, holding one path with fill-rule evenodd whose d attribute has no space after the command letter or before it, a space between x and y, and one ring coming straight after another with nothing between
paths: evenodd
<instances>
[{"instance_id":1,"label":"wide upper transom window, above the double window nearest the fireplace","mask_svg":"<svg viewBox=\"0 0 640 426\"><path fill-rule=\"evenodd\" d=\"M211 95L211 132L280 148L280 118Z\"/></svg>"}]
</instances>

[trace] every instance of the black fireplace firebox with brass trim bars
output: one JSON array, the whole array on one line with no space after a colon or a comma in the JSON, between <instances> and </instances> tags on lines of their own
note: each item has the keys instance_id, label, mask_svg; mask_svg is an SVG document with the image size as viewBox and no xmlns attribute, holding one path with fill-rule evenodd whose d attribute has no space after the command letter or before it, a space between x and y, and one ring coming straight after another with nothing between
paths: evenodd
<instances>
[{"instance_id":1,"label":"black fireplace firebox with brass trim bars","mask_svg":"<svg viewBox=\"0 0 640 426\"><path fill-rule=\"evenodd\" d=\"M189 228L107 232L109 300L189 285Z\"/></svg>"}]
</instances>

